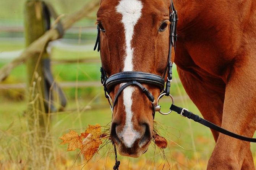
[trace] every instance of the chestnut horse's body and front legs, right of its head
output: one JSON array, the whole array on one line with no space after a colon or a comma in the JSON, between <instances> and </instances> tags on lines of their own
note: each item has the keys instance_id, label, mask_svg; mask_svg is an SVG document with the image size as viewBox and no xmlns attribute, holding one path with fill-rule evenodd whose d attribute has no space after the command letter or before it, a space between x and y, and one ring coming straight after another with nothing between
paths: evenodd
<instances>
[{"instance_id":1,"label":"chestnut horse's body and front legs, right of its head","mask_svg":"<svg viewBox=\"0 0 256 170\"><path fill-rule=\"evenodd\" d=\"M204 118L253 137L256 129L256 1L176 0L175 63ZM250 143L212 131L208 169L254 169Z\"/></svg>"}]
</instances>

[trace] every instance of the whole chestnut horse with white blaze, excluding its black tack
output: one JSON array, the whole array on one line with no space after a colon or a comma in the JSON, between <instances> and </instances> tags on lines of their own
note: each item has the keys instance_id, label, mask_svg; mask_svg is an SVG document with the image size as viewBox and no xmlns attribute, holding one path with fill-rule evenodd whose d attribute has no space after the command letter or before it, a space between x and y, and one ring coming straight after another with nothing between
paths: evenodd
<instances>
[{"instance_id":1,"label":"whole chestnut horse with white blaze, excluding its black tack","mask_svg":"<svg viewBox=\"0 0 256 170\"><path fill-rule=\"evenodd\" d=\"M107 76L141 71L163 76L169 53L170 0L101 0L100 55ZM256 130L256 1L174 0L179 15L175 57L181 82L205 119L253 137ZM110 98L114 99L116 85ZM158 87L143 84L154 96ZM126 87L113 110L118 152L139 157L153 131L151 102ZM250 143L212 130L216 146L207 169L253 170Z\"/></svg>"}]
</instances>

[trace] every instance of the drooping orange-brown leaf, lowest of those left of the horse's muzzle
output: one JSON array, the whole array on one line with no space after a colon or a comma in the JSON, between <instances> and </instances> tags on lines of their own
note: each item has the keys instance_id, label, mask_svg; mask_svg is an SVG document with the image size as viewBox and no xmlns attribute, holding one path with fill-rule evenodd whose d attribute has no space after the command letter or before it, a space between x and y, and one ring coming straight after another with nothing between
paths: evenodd
<instances>
[{"instance_id":1,"label":"drooping orange-brown leaf, lowest of those left of the horse's muzzle","mask_svg":"<svg viewBox=\"0 0 256 170\"><path fill-rule=\"evenodd\" d=\"M90 133L83 141L83 148L81 153L84 154L84 158L88 161L97 153L99 146L102 144L100 139L92 138L92 133Z\"/></svg>"}]
</instances>

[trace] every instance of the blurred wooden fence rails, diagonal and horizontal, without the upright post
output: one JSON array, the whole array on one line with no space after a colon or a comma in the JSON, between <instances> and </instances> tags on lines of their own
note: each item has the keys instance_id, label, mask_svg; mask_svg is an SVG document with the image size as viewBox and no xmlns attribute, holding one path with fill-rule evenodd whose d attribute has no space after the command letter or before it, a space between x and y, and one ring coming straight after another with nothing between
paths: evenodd
<instances>
[{"instance_id":1,"label":"blurred wooden fence rails, diagonal and horizontal, without the upright post","mask_svg":"<svg viewBox=\"0 0 256 170\"><path fill-rule=\"evenodd\" d=\"M71 27L71 25L76 22L79 21L79 19L85 17L87 15L87 13L85 13L84 11L87 11L88 13L91 12L95 7L97 7L97 3L99 2L99 0L94 1L93 3L90 4L89 7L87 7L86 5L77 13L70 15L68 17L66 17L63 27L64 29L68 29ZM79 17L77 17L79 16ZM56 23L55 23L56 24ZM84 29L95 29L94 27L83 27ZM52 29L51 29L52 30ZM69 31L73 31L73 32L79 32L81 30L81 27L72 27L69 29ZM0 31L5 31L5 32L23 32L24 28L23 27L0 27ZM57 32L55 32L56 34L58 34ZM45 35L43 35L42 37L44 37ZM42 38L41 37L41 38ZM58 37L58 36L57 36ZM55 36L55 38L57 38ZM39 38L37 41L40 41ZM46 41L50 41L52 39L55 38L48 38L48 40ZM35 43L32 44L32 46ZM41 42L42 44L42 42ZM38 44L37 44L38 46ZM29 51L29 48L31 46L28 47L28 49L26 49L23 54L21 54L21 56L19 56L17 59L13 60L13 62L11 62L10 64L7 64L5 67L0 69L0 82L5 79L6 76L8 76L10 74L10 71L15 68L16 66L18 66L20 63L23 63L24 61L29 59L29 55L34 54L34 52L31 52L31 50ZM36 46L33 46L33 48ZM38 51L38 49L37 49ZM41 52L41 51L40 51ZM39 52L39 53L40 53ZM36 52L36 54L39 55L38 52ZM23 57L24 54L26 54L27 56ZM56 65L56 64L72 64L72 63L77 63L78 60L77 59L65 59L65 60L60 60L60 59L52 59L51 60L51 64ZM79 59L79 63L87 63L87 64L92 64L92 63L96 63L96 64L100 64L100 58L84 58L84 59ZM18 65L17 65L18 64ZM10 68L8 68L8 66L10 66ZM6 69L7 68L7 69ZM3 74L1 74L3 73ZM180 83L179 79L174 79L173 80L174 83ZM78 87L78 88L83 88L83 87L100 87L100 81L69 81L69 82L59 82L58 83L60 85L60 87L62 88L74 88L74 87ZM25 89L27 87L26 83L16 83L16 84L1 84L0 83L0 89Z\"/></svg>"}]
</instances>

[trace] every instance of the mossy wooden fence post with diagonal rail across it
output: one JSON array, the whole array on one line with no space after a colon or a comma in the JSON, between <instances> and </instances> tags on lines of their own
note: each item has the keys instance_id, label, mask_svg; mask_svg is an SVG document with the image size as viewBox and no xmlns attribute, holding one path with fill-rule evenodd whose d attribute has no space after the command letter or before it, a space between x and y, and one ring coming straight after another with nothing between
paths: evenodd
<instances>
[{"instance_id":1,"label":"mossy wooden fence post with diagonal rail across it","mask_svg":"<svg viewBox=\"0 0 256 170\"><path fill-rule=\"evenodd\" d=\"M33 132L33 141L41 143L42 147L37 152L45 155L43 159L40 159L40 165L44 164L49 158L51 152L49 148L52 148L52 142L50 141L51 114L48 113L63 111L66 106L65 95L61 88L57 86L51 73L51 61L46 51L47 44L50 41L62 38L66 30L75 22L96 10L98 5L99 0L92 0L76 13L58 16L53 7L44 0L27 0L24 8L26 49L19 57L0 68L0 82L2 82L15 67L26 64L28 77L26 84L1 84L0 86L1 89L27 89L29 101L24 116L28 119L29 130ZM51 24L51 18L54 19L53 24ZM92 84L96 85L97 83ZM63 86L72 85L72 82L63 83ZM79 85L84 86L81 82ZM77 86L78 83L76 83Z\"/></svg>"}]
</instances>

